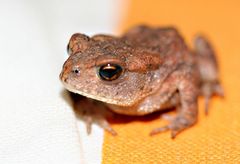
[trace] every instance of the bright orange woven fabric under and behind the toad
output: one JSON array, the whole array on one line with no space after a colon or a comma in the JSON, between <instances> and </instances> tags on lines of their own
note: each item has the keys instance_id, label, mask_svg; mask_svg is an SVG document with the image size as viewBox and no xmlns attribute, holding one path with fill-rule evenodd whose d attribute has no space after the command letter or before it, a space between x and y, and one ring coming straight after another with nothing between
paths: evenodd
<instances>
[{"instance_id":1,"label":"bright orange woven fabric under and behind the toad","mask_svg":"<svg viewBox=\"0 0 240 164\"><path fill-rule=\"evenodd\" d=\"M188 44L202 32L213 43L220 65L225 99L214 97L210 113L176 139L149 132L166 123L161 119L113 124L118 136L105 133L103 163L240 163L240 1L131 0L120 31L139 24L174 25ZM123 121L123 120L122 120Z\"/></svg>"}]
</instances>

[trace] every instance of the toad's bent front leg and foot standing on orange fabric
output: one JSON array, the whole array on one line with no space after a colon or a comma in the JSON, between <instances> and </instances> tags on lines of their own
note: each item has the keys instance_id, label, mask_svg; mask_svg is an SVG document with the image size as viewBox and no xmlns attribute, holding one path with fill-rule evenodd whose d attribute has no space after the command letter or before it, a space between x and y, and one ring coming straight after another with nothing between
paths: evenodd
<instances>
[{"instance_id":1,"label":"toad's bent front leg and foot standing on orange fabric","mask_svg":"<svg viewBox=\"0 0 240 164\"><path fill-rule=\"evenodd\" d=\"M154 129L150 134L154 135L166 130L171 131L171 137L182 130L192 126L197 121L198 116L198 84L197 74L190 66L182 66L177 72L174 72L169 78L172 79L173 87L179 92L180 104L177 106L177 115L174 118L168 117L170 123L164 127ZM169 85L164 83L164 85ZM162 91L164 93L164 91Z\"/></svg>"}]
</instances>

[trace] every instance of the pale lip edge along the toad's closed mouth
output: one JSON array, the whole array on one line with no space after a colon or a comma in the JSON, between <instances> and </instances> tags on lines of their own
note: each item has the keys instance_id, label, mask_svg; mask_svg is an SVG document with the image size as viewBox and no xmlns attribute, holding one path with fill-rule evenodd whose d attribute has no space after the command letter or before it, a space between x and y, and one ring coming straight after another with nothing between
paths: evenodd
<instances>
[{"instance_id":1,"label":"pale lip edge along the toad's closed mouth","mask_svg":"<svg viewBox=\"0 0 240 164\"><path fill-rule=\"evenodd\" d=\"M85 96L85 97L93 99L93 100L101 101L101 102L112 104L112 105L123 106L123 107L129 107L134 104L134 102L131 100L123 101L123 100L112 99L109 97L97 96L97 95L90 94L87 91L80 91L80 90L74 88L72 85L69 85L68 83L65 83L63 81L62 81L62 83L68 91Z\"/></svg>"}]
</instances>

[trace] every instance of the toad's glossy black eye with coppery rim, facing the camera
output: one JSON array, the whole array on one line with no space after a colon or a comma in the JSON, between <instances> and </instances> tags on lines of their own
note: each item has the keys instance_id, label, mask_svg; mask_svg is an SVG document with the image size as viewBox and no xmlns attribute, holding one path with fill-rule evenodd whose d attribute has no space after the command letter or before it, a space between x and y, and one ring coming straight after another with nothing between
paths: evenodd
<instances>
[{"instance_id":1,"label":"toad's glossy black eye with coppery rim, facing the camera","mask_svg":"<svg viewBox=\"0 0 240 164\"><path fill-rule=\"evenodd\" d=\"M117 64L107 64L99 68L99 76L102 80L113 81L119 78L122 74L123 69Z\"/></svg>"}]
</instances>

